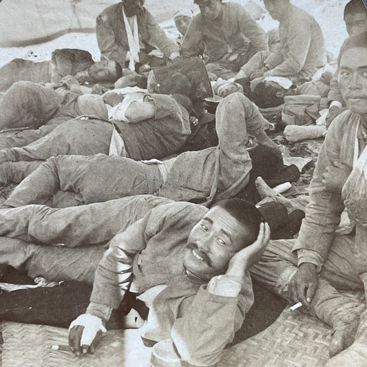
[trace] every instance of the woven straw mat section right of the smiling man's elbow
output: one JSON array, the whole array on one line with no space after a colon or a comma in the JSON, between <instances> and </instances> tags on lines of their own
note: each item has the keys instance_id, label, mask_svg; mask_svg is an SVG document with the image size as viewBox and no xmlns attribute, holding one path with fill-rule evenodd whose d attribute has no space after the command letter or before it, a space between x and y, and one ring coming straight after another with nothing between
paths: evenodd
<instances>
[{"instance_id":1,"label":"woven straw mat section right of the smiling man's elbow","mask_svg":"<svg viewBox=\"0 0 367 367\"><path fill-rule=\"evenodd\" d=\"M258 335L229 348L217 367L320 367L328 360L331 328L286 308Z\"/></svg>"}]
</instances>

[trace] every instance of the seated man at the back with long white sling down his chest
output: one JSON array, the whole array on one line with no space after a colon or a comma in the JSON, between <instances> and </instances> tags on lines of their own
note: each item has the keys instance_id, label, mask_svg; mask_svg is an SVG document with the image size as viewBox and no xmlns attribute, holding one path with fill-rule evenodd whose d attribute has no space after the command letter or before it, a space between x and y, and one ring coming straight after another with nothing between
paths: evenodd
<instances>
[{"instance_id":1,"label":"seated man at the back with long white sling down his chest","mask_svg":"<svg viewBox=\"0 0 367 367\"><path fill-rule=\"evenodd\" d=\"M138 65L161 66L180 56L178 45L143 7L144 2L123 0L98 15L96 36L102 60L116 61L121 67L128 65L130 70L136 70ZM149 55L156 48L164 59Z\"/></svg>"}]
</instances>

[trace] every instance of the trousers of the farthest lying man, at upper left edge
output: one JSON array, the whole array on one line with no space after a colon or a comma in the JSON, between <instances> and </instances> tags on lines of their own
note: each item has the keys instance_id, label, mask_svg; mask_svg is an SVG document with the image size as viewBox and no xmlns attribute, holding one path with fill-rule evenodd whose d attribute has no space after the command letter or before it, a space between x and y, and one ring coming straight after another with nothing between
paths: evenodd
<instances>
[{"instance_id":1,"label":"trousers of the farthest lying man, at upper left edge","mask_svg":"<svg viewBox=\"0 0 367 367\"><path fill-rule=\"evenodd\" d=\"M0 67L0 91L5 92L17 81L48 83L51 81L51 61L34 61L14 59Z\"/></svg>"}]
</instances>

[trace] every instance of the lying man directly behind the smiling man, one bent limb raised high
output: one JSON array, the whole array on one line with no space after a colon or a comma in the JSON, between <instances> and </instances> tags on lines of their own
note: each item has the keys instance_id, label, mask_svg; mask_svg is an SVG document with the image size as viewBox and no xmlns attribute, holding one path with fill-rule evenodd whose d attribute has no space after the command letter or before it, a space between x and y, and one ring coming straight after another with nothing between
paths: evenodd
<instances>
[{"instance_id":1,"label":"lying man directly behind the smiling man, one bent limb raised high","mask_svg":"<svg viewBox=\"0 0 367 367\"><path fill-rule=\"evenodd\" d=\"M164 162L136 162L102 154L52 157L21 182L6 204L43 204L59 189L69 191L73 205L140 193L204 203L228 198L249 180L249 134L279 154L277 145L264 132L265 125L253 103L243 94L231 94L216 112L218 147L187 151Z\"/></svg>"}]
</instances>

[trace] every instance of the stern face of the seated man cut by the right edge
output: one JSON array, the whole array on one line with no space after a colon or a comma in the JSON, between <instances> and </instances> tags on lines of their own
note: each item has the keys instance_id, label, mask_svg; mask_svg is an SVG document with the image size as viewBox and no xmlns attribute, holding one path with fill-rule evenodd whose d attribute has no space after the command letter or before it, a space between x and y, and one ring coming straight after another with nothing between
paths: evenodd
<instances>
[{"instance_id":1,"label":"stern face of the seated man cut by the right edge","mask_svg":"<svg viewBox=\"0 0 367 367\"><path fill-rule=\"evenodd\" d=\"M348 109L367 119L366 48L350 48L342 54L338 83Z\"/></svg>"}]
</instances>

